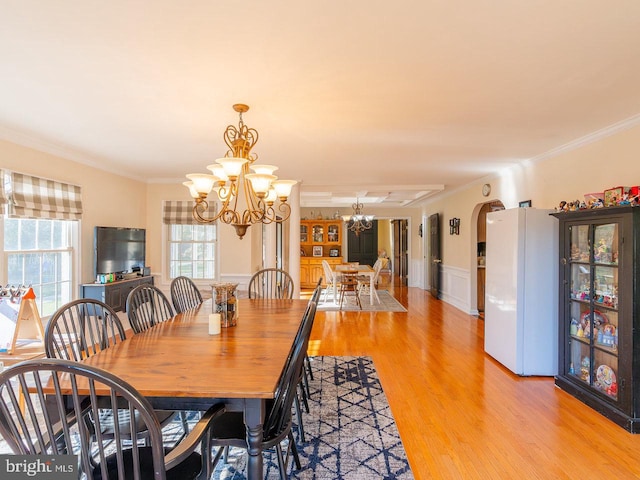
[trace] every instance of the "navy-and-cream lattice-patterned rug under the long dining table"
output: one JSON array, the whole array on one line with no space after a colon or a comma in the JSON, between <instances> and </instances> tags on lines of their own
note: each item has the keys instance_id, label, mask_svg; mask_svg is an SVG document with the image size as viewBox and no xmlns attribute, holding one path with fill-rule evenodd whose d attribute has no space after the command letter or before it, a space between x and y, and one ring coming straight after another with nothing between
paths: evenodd
<instances>
[{"instance_id":1,"label":"navy-and-cream lattice-patterned rug under the long dining table","mask_svg":"<svg viewBox=\"0 0 640 480\"><path fill-rule=\"evenodd\" d=\"M299 445L301 470L292 479L408 480L413 474L369 357L312 357L310 413L303 412L307 443ZM295 428L295 426L294 426ZM265 480L279 479L275 453L264 457ZM245 479L246 453L232 449L214 478Z\"/></svg>"}]
</instances>

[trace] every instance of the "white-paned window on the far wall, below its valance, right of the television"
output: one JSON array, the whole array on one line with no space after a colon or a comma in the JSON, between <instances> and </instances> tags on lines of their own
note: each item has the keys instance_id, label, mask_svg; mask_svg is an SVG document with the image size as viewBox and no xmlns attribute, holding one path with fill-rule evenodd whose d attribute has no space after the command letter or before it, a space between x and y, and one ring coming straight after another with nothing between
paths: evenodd
<instances>
[{"instance_id":1,"label":"white-paned window on the far wall, below its valance, right of the television","mask_svg":"<svg viewBox=\"0 0 640 480\"><path fill-rule=\"evenodd\" d=\"M193 280L216 277L215 225L169 224L169 277L181 275Z\"/></svg>"}]
</instances>

